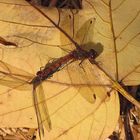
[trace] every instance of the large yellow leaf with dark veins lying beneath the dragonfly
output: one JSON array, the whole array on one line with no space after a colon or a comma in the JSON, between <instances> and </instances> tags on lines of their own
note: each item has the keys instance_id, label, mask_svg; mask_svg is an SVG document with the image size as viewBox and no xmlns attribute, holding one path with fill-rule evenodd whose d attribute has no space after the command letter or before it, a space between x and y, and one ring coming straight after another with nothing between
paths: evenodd
<instances>
[{"instance_id":1,"label":"large yellow leaf with dark veins lying beneath the dragonfly","mask_svg":"<svg viewBox=\"0 0 140 140\"><path fill-rule=\"evenodd\" d=\"M86 29L86 21L96 18L94 30L89 32L93 35L86 39L86 43L94 40L94 44L103 45L97 61L113 79L124 77L125 84L139 84L139 8L136 8L139 2L135 1L132 6L129 1L111 1L113 3L110 4L107 1L85 0L85 9L75 14L72 31L69 27L73 27L73 17L68 21L68 16L73 15L70 11L61 11L59 23L57 9L40 9L74 39L77 33L77 41L81 40L78 34L86 32L82 31ZM131 15L126 8L129 5L134 9ZM71 45L64 46L70 43L64 35L24 0L0 0L0 12L0 36L18 44L16 48L1 46L0 127L37 127L29 81L51 58L65 54L63 49L71 50ZM133 58L132 61L127 61L127 57ZM102 140L115 128L119 116L117 94L111 92L107 100L109 89L95 86L109 83L104 74L96 72L97 67L87 61L83 63L85 74L78 64L72 63L43 83L52 123L52 130L45 133L47 139Z\"/></svg>"}]
</instances>

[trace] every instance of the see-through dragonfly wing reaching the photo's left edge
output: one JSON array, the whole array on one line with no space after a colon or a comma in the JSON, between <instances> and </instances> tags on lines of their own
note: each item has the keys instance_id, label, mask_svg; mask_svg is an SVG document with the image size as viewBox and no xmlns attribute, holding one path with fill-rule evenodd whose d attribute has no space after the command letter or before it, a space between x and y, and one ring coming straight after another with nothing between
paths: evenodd
<instances>
[{"instance_id":1,"label":"see-through dragonfly wing reaching the photo's left edge","mask_svg":"<svg viewBox=\"0 0 140 140\"><path fill-rule=\"evenodd\" d=\"M32 78L32 74L0 61L0 85L26 90Z\"/></svg>"}]
</instances>

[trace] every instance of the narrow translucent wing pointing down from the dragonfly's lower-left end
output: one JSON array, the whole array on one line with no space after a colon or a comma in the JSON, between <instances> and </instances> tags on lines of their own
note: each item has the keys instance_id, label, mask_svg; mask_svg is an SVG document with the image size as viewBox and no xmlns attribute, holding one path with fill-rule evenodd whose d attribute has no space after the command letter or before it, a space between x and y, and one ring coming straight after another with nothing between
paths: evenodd
<instances>
[{"instance_id":1,"label":"narrow translucent wing pointing down from the dragonfly's lower-left end","mask_svg":"<svg viewBox=\"0 0 140 140\"><path fill-rule=\"evenodd\" d=\"M49 116L49 111L47 104L45 102L45 94L42 85L40 84L36 89L36 97L37 97L37 110L38 110L38 118L40 118L39 126L43 127L43 125L46 127L46 129L49 131L51 129L51 120Z\"/></svg>"}]
</instances>

